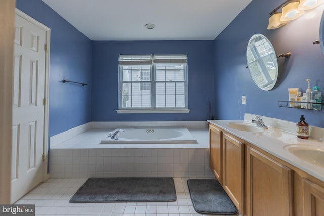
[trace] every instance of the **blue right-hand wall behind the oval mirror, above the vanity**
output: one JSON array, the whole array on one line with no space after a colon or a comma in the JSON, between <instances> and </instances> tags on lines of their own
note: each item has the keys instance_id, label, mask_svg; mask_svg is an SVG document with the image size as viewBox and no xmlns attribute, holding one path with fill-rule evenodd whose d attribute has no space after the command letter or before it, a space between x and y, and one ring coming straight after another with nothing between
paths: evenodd
<instances>
[{"instance_id":1,"label":"blue right-hand wall behind the oval mirror, above the vanity","mask_svg":"<svg viewBox=\"0 0 324 216\"><path fill-rule=\"evenodd\" d=\"M324 92L324 55L319 45L312 44L319 39L324 5L279 29L267 30L269 12L282 2L252 1L215 39L216 119L239 119L240 113L254 113L298 122L303 114L310 125L324 127L324 111L278 107L278 100L288 100L288 88L305 92L307 78L311 87L318 85ZM276 54L292 53L289 59L278 59L279 78L270 91L259 89L246 68L247 44L256 33L268 37ZM246 105L238 105L242 95L246 95Z\"/></svg>"}]
</instances>

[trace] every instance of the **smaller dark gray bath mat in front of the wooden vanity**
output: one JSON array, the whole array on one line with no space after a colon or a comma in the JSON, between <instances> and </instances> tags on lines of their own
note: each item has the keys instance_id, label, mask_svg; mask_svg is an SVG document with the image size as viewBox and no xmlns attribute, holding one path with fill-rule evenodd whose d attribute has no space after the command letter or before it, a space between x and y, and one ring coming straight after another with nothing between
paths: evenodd
<instances>
[{"instance_id":1,"label":"smaller dark gray bath mat in front of the wooden vanity","mask_svg":"<svg viewBox=\"0 0 324 216\"><path fill-rule=\"evenodd\" d=\"M193 208L203 214L235 214L237 212L226 192L215 179L187 181Z\"/></svg>"}]
</instances>

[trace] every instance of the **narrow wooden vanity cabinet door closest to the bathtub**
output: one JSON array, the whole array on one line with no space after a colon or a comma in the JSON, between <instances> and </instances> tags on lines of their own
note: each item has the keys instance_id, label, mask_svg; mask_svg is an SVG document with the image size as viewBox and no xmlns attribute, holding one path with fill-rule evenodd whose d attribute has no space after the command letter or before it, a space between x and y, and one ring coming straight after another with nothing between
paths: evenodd
<instances>
[{"instance_id":1,"label":"narrow wooden vanity cabinet door closest to the bathtub","mask_svg":"<svg viewBox=\"0 0 324 216\"><path fill-rule=\"evenodd\" d=\"M209 125L209 167L216 179L222 183L222 132Z\"/></svg>"}]
</instances>

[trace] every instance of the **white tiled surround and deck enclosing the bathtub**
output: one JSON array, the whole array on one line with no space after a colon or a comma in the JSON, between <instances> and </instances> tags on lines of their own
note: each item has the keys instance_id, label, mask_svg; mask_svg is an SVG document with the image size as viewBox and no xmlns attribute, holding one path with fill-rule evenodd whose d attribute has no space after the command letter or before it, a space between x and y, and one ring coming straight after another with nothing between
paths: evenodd
<instances>
[{"instance_id":1,"label":"white tiled surround and deck enclosing the bathtub","mask_svg":"<svg viewBox=\"0 0 324 216\"><path fill-rule=\"evenodd\" d=\"M212 177L207 122L140 123L91 122L93 129L55 144L50 150L51 178ZM106 128L126 125L185 125L198 143L100 144L101 137L109 132Z\"/></svg>"}]
</instances>

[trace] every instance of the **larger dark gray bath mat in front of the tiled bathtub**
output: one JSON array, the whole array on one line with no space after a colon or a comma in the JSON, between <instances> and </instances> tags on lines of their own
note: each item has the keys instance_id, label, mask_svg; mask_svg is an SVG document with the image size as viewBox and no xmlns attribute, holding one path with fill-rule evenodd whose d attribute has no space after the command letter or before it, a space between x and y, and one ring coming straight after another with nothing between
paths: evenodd
<instances>
[{"instance_id":1,"label":"larger dark gray bath mat in front of the tiled bathtub","mask_svg":"<svg viewBox=\"0 0 324 216\"><path fill-rule=\"evenodd\" d=\"M173 178L89 178L70 202L168 202L177 199Z\"/></svg>"}]
</instances>

